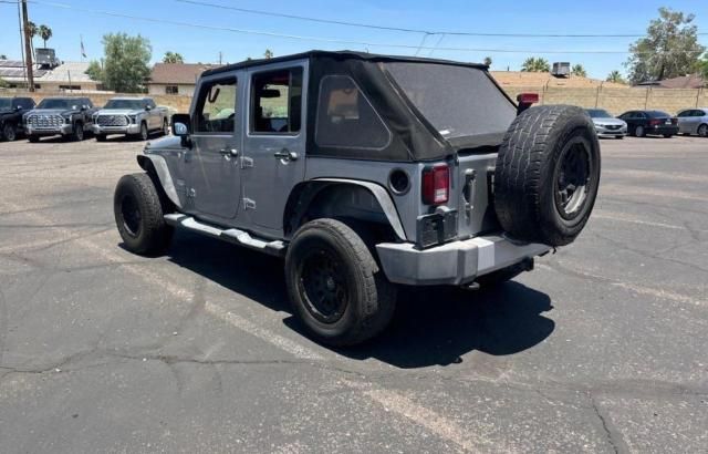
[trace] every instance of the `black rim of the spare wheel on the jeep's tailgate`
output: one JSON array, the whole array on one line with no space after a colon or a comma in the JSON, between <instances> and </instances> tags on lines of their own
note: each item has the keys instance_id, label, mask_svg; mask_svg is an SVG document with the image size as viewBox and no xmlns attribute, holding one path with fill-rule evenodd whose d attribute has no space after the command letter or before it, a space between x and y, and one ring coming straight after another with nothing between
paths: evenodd
<instances>
[{"instance_id":1,"label":"black rim of the spare wheel on the jeep's tailgate","mask_svg":"<svg viewBox=\"0 0 708 454\"><path fill-rule=\"evenodd\" d=\"M580 137L570 141L555 172L555 207L564 219L573 219L582 213L592 171L590 144Z\"/></svg>"}]
</instances>

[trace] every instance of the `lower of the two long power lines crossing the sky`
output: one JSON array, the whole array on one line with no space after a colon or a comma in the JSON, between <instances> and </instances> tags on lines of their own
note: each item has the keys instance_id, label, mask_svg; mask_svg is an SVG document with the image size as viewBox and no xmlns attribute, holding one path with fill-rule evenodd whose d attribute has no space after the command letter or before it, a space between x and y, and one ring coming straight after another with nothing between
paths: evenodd
<instances>
[{"instance_id":1,"label":"lower of the two long power lines crossing the sky","mask_svg":"<svg viewBox=\"0 0 708 454\"><path fill-rule=\"evenodd\" d=\"M312 41L312 42L324 42L330 44L345 44L345 45L357 45L364 48L392 48L392 49L405 49L408 51L415 50L427 50L427 51L454 51L454 52L490 52L490 53L524 53L524 54L628 54L632 53L629 51L613 51L613 50L528 50L528 49L481 49L481 48L459 48L459 47L425 47L425 45L415 45L415 44L392 44L392 43L383 43L383 42L367 42L367 41L355 41L355 40L344 40L337 38L321 38L321 37L309 37L309 35L299 35L299 34L288 34L288 33L277 33L269 32L263 30L249 30L249 29L238 29L232 27L220 27L220 25L207 25L202 23L192 23L192 22L181 22L174 21L168 19L158 19L158 18L149 18L149 17L140 17L126 14L123 12L114 12L114 11L103 11L96 9L88 8L80 8L73 7L71 4L65 3L56 3L50 1L42 0L28 0L29 3L45 6L51 8L60 8L65 10L81 11L90 14L103 14L110 16L114 18L123 18L123 19L132 19L139 20L146 22L162 23L167 25L177 25L177 27L189 27L195 29L204 29L204 30L216 30L216 31L226 31L232 33L243 33L243 34L254 34L260 37L271 37L271 38L283 38L290 40L300 40L300 41ZM648 52L647 52L648 53Z\"/></svg>"}]
</instances>

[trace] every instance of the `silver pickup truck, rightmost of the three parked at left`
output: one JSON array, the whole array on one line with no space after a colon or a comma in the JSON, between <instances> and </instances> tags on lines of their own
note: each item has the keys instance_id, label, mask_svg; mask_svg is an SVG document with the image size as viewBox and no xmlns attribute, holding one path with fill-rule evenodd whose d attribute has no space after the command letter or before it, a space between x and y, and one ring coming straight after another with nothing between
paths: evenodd
<instances>
[{"instance_id":1,"label":"silver pickup truck, rightmost of the three parked at left","mask_svg":"<svg viewBox=\"0 0 708 454\"><path fill-rule=\"evenodd\" d=\"M150 133L169 134L168 112L152 97L114 97L95 113L93 133L103 142L110 134L121 134L147 141Z\"/></svg>"}]
</instances>

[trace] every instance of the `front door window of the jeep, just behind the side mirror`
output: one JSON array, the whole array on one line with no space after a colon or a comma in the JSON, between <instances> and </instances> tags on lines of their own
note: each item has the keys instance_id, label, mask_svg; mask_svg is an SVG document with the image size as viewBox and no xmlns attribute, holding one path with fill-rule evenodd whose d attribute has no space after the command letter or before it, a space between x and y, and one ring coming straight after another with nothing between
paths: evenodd
<instances>
[{"instance_id":1,"label":"front door window of the jeep, just behind the side mirror","mask_svg":"<svg viewBox=\"0 0 708 454\"><path fill-rule=\"evenodd\" d=\"M205 82L195 114L196 133L232 133L236 116L236 78Z\"/></svg>"}]
</instances>

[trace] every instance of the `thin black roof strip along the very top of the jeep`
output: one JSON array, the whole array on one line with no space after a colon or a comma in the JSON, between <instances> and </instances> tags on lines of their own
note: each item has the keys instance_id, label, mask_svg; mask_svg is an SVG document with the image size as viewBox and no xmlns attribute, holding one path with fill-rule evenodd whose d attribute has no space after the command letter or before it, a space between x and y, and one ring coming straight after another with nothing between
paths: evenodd
<instances>
[{"instance_id":1,"label":"thin black roof strip along the very top of the jeep","mask_svg":"<svg viewBox=\"0 0 708 454\"><path fill-rule=\"evenodd\" d=\"M239 63L227 64L219 68L214 68L211 70L207 70L202 75L211 75L219 74L222 72L228 72L232 70L240 70L243 68L252 68L259 66L261 64L270 64L270 63L279 63L279 62L289 62L293 60L302 60L302 59L313 59L313 58L327 58L331 60L362 60L369 62L418 62L418 63L437 63L437 64L449 64L454 66L469 66L477 68L479 70L487 70L489 66L481 63L462 63L456 62L452 60L442 60L442 59L426 59L423 56L405 56L405 55L383 55L377 53L366 53L366 52L356 52L356 51L319 51L312 50L308 52L293 53L291 55L283 56L273 56L272 59L256 59L256 60L244 60Z\"/></svg>"}]
</instances>

